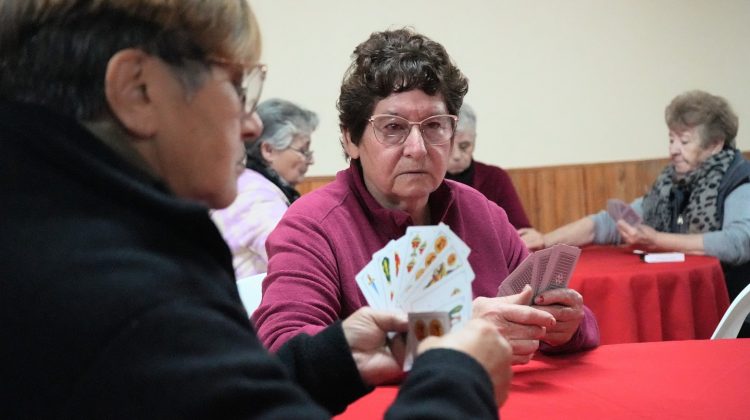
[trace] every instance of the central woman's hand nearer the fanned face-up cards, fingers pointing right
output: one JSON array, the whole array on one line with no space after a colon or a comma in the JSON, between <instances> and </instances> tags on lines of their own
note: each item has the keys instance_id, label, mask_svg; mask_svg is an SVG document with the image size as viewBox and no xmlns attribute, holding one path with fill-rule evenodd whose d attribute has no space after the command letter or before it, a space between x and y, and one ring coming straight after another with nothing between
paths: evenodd
<instances>
[{"instance_id":1,"label":"central woman's hand nearer the fanned face-up cards, fingers pointing right","mask_svg":"<svg viewBox=\"0 0 750 420\"><path fill-rule=\"evenodd\" d=\"M472 317L490 321L510 342L513 364L528 363L546 330L555 325L555 318L548 312L528 306L533 294L527 285L515 295L474 299Z\"/></svg>"}]
</instances>

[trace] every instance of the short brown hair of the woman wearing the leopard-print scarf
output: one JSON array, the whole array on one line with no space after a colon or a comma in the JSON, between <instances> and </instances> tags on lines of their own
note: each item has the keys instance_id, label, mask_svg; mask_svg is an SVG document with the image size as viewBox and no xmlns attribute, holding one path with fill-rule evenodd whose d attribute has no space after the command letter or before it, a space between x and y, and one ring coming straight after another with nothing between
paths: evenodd
<instances>
[{"instance_id":1,"label":"short brown hair of the woman wearing the leopard-print scarf","mask_svg":"<svg viewBox=\"0 0 750 420\"><path fill-rule=\"evenodd\" d=\"M729 102L721 96L702 90L685 92L667 105L664 119L669 129L675 131L702 126L703 148L716 143L723 143L725 149L735 148L739 120Z\"/></svg>"}]
</instances>

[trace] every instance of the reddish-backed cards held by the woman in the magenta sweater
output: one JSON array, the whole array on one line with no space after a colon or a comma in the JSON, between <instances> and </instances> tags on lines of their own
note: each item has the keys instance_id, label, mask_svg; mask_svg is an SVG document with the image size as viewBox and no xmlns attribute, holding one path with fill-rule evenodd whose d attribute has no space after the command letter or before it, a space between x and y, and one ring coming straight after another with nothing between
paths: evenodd
<instances>
[{"instance_id":1,"label":"reddish-backed cards held by the woman in the magenta sweater","mask_svg":"<svg viewBox=\"0 0 750 420\"><path fill-rule=\"evenodd\" d=\"M557 244L529 254L503 280L497 289L497 295L508 296L521 293L524 286L528 284L534 290L533 300L546 290L568 287L579 255L581 255L580 248L564 244Z\"/></svg>"}]
</instances>

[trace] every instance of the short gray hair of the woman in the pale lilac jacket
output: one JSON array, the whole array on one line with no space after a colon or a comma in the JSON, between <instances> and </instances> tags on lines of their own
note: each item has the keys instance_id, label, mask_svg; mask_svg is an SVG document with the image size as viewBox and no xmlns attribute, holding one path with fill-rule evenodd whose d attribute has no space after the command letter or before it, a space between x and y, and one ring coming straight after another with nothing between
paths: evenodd
<instances>
[{"instance_id":1,"label":"short gray hair of the woman in the pale lilac jacket","mask_svg":"<svg viewBox=\"0 0 750 420\"><path fill-rule=\"evenodd\" d=\"M263 121L263 133L252 143L246 143L247 153L263 161L260 146L268 143L275 150L284 150L297 135L310 135L318 127L318 115L284 99L267 99L258 105L258 116Z\"/></svg>"}]
</instances>

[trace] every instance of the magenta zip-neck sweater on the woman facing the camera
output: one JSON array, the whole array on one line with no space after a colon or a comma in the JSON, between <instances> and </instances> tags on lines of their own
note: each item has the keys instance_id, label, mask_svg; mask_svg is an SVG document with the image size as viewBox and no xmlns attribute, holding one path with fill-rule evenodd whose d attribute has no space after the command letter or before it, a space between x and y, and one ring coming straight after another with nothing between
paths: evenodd
<instances>
[{"instance_id":1,"label":"magenta zip-neck sweater on the woman facing the camera","mask_svg":"<svg viewBox=\"0 0 750 420\"><path fill-rule=\"evenodd\" d=\"M495 296L500 282L529 253L505 211L453 181L430 194L428 206L431 220L450 226L471 248L474 296ZM354 163L332 183L294 202L266 242L268 276L252 316L261 341L276 350L299 333L315 334L367 305L355 275L410 225L407 213L375 201ZM596 321L586 315L583 334L565 349L598 342Z\"/></svg>"}]
</instances>

